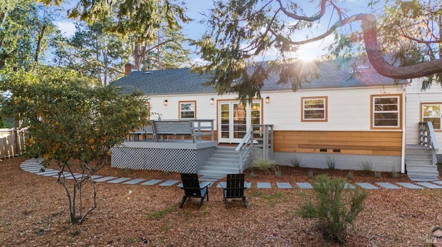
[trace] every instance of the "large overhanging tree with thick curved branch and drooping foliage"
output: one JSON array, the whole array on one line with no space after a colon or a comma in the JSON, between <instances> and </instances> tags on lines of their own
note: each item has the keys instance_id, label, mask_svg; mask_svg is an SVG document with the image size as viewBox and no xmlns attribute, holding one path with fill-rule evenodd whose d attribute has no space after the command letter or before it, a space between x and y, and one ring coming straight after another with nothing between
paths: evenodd
<instances>
[{"instance_id":1,"label":"large overhanging tree with thick curved branch and drooping foliage","mask_svg":"<svg viewBox=\"0 0 442 247\"><path fill-rule=\"evenodd\" d=\"M236 0L236 1L215 1L214 7L210 10L205 21L208 31L201 39L194 44L200 48L200 54L206 64L195 67L195 70L213 73L212 80L207 83L217 89L219 94L238 92L241 100L251 100L260 96L262 82L270 73L280 74L280 83L291 83L294 89L300 86L304 78L314 76L314 70L307 70L300 63L294 65L294 58L300 45L320 41L326 36L335 34L340 52L342 47L354 42L348 34L339 32L339 28L358 21L361 22L363 43L367 58L379 74L391 78L419 78L442 72L442 61L427 59L423 63L395 67L385 61L385 56L378 45L378 29L376 17L373 14L355 14L347 17L339 3L332 0L320 0L319 11L307 16L296 1L281 0ZM402 3L403 1L395 1ZM412 1L419 6L416 0ZM411 4L411 3L410 3ZM434 3L436 4L436 3ZM439 4L439 3L437 3ZM405 9L404 14L394 13L397 19L407 19L410 12L416 12L417 7ZM431 9L431 8L429 8ZM436 8L434 17L439 13L440 6ZM437 12L439 11L439 12ZM296 34L303 30L311 30L315 25L331 13L331 20L334 23L323 34L307 36L306 39L297 40ZM423 17L423 15L419 15ZM417 17L417 16L414 16ZM416 18L418 20L418 18ZM433 21L435 19L432 19ZM416 25L416 22L408 22ZM439 21L440 23L440 21ZM436 23L434 23L436 24ZM430 26L430 25L429 25ZM390 28L398 28L392 22ZM415 30L418 30L416 26ZM383 29L386 32L387 28ZM406 31L406 30L405 30ZM381 33L384 35L385 32ZM427 36L437 34L438 30L427 28ZM393 36L393 35L392 35ZM413 37L413 36L411 36ZM406 36L402 36L406 38ZM410 38L410 37L409 37ZM390 42L389 39L380 39ZM412 39L409 39L412 41ZM440 39L432 39L434 45L440 44ZM416 42L414 42L416 43ZM425 44L425 43L424 43ZM339 47L340 45L340 47ZM392 45L385 43L385 46ZM257 58L265 57L267 52L275 52L276 59L273 63L258 63ZM253 72L247 69L248 65L254 65Z\"/></svg>"}]
</instances>

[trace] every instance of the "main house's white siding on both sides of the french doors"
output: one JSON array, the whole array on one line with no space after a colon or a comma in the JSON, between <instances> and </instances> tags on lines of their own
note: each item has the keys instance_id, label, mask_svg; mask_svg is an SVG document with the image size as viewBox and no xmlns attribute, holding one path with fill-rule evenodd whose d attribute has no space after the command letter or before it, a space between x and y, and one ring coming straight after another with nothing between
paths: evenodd
<instances>
[{"instance_id":1,"label":"main house's white siding on both sides of the french doors","mask_svg":"<svg viewBox=\"0 0 442 247\"><path fill-rule=\"evenodd\" d=\"M401 92L402 87L396 86L262 92L262 98L270 97L270 103L262 102L263 123L274 125L278 131L369 131L370 96ZM301 98L315 96L327 96L327 122L301 122ZM160 113L162 119L179 118L178 102L196 100L196 117L216 120L217 100L233 100L236 95L192 94L148 98L151 98L151 111ZM210 105L210 98L215 99L213 105ZM168 100L169 105L164 106L164 100ZM151 119L155 120L157 116L153 115Z\"/></svg>"}]
</instances>

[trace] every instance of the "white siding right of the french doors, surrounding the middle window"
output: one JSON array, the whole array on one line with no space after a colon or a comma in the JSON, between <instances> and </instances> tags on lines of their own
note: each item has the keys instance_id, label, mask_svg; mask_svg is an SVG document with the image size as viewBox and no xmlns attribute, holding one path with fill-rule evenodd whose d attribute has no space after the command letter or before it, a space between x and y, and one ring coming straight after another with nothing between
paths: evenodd
<instances>
[{"instance_id":1,"label":"white siding right of the french doors, surrounding the middle window","mask_svg":"<svg viewBox=\"0 0 442 247\"><path fill-rule=\"evenodd\" d=\"M264 104L264 123L283 131L369 131L370 96L401 94L402 87L299 90L298 92L262 92L269 96ZM327 122L301 122L301 98L327 96Z\"/></svg>"}]
</instances>

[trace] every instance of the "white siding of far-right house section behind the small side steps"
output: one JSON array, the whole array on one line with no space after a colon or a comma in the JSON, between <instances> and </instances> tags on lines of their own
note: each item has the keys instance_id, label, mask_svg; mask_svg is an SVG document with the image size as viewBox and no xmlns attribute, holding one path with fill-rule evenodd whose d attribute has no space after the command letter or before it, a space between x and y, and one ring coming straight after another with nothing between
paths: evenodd
<instances>
[{"instance_id":1,"label":"white siding of far-right house section behind the small side steps","mask_svg":"<svg viewBox=\"0 0 442 247\"><path fill-rule=\"evenodd\" d=\"M421 121L421 103L442 102L442 87L433 84L430 89L421 90L421 80L412 80L406 87L407 97L407 144L418 144L418 124ZM436 132L436 139L439 144L439 153L442 153L442 132Z\"/></svg>"}]
</instances>

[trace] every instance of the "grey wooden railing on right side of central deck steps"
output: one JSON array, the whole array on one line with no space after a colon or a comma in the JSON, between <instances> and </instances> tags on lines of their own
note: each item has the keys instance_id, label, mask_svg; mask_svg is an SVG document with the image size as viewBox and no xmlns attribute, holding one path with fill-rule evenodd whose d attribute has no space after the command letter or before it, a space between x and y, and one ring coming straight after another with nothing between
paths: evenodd
<instances>
[{"instance_id":1,"label":"grey wooden railing on right side of central deck steps","mask_svg":"<svg viewBox=\"0 0 442 247\"><path fill-rule=\"evenodd\" d=\"M240 172L251 164L253 149L262 148L262 159L273 158L273 125L251 125L244 138L236 147L240 152Z\"/></svg>"}]
</instances>

